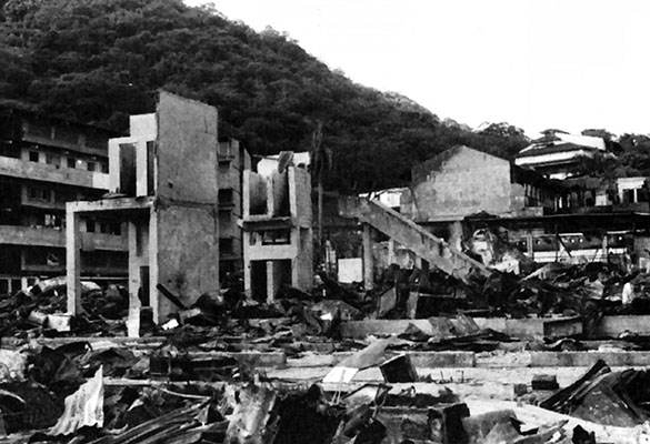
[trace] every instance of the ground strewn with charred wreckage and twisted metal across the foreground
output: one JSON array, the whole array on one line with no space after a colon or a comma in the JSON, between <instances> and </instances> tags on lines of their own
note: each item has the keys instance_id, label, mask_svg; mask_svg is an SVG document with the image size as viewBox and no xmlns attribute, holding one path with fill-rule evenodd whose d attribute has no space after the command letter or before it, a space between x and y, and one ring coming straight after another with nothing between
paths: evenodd
<instances>
[{"instance_id":1,"label":"ground strewn with charred wreckage and twisted metal across the foreground","mask_svg":"<svg viewBox=\"0 0 650 444\"><path fill-rule=\"evenodd\" d=\"M272 304L231 285L160 326L143 311L139 339L126 336L123 289L86 284L84 313L66 319L63 280L44 281L0 301L1 442L650 442L646 370L530 361L649 350L631 332L591 336L606 314L647 313L644 274L556 264L473 286L414 274L393 268L372 292L322 274L313 292L286 287ZM623 304L628 282L636 297ZM522 340L470 317L486 314L580 316L582 329ZM354 320L411 317L428 327L344 334Z\"/></svg>"}]
</instances>

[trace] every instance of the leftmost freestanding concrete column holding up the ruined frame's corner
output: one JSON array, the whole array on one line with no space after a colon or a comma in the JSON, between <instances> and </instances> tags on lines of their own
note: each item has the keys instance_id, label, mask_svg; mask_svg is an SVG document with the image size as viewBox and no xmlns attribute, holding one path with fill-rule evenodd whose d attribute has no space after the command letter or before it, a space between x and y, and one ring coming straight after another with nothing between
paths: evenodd
<instances>
[{"instance_id":1,"label":"leftmost freestanding concrete column holding up the ruined frame's corner","mask_svg":"<svg viewBox=\"0 0 650 444\"><path fill-rule=\"evenodd\" d=\"M81 311L81 231L79 214L66 209L66 270L68 281L68 313Z\"/></svg>"}]
</instances>

